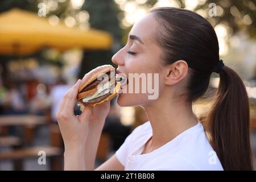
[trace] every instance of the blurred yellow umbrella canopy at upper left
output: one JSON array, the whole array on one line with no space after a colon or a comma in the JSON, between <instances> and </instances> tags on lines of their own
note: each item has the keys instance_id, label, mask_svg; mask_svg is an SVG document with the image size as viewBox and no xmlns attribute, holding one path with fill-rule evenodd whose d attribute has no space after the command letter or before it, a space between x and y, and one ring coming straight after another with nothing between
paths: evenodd
<instances>
[{"instance_id":1,"label":"blurred yellow umbrella canopy at upper left","mask_svg":"<svg viewBox=\"0 0 256 182\"><path fill-rule=\"evenodd\" d=\"M64 51L69 48L109 49L112 36L90 28L52 26L48 19L28 11L12 9L0 14L0 54L26 55L44 47Z\"/></svg>"}]
</instances>

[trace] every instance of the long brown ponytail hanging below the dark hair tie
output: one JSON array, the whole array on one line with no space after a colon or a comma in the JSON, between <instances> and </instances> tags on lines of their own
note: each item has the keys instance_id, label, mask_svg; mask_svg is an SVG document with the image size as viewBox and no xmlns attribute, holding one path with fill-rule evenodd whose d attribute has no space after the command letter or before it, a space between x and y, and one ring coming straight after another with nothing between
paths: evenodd
<instances>
[{"instance_id":1,"label":"long brown ponytail hanging below the dark hair tie","mask_svg":"<svg viewBox=\"0 0 256 182\"><path fill-rule=\"evenodd\" d=\"M224 66L208 117L210 142L224 170L252 170L249 100L245 85Z\"/></svg>"}]
</instances>

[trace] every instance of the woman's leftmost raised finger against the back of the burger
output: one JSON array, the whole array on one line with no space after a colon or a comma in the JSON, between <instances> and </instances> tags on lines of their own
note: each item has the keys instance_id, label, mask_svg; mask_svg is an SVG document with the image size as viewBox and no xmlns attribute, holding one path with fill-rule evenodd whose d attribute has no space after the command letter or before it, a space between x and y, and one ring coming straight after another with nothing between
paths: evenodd
<instances>
[{"instance_id":1,"label":"woman's leftmost raised finger against the back of the burger","mask_svg":"<svg viewBox=\"0 0 256 182\"><path fill-rule=\"evenodd\" d=\"M80 85L81 80L79 79L76 84L72 87L71 91L69 92L66 101L65 101L65 106L64 106L64 113L67 113L68 115L73 115L74 114L74 106L76 102L76 97L77 93L79 90L79 85Z\"/></svg>"}]
</instances>

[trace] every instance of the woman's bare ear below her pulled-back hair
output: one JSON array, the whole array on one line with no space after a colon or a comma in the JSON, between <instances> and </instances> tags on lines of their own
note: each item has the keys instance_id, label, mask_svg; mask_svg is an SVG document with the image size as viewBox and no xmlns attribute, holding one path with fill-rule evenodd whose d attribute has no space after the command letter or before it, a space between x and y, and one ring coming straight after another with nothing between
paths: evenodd
<instances>
[{"instance_id":1,"label":"woman's bare ear below her pulled-back hair","mask_svg":"<svg viewBox=\"0 0 256 182\"><path fill-rule=\"evenodd\" d=\"M164 83L166 85L174 85L183 80L188 73L188 64L184 60L178 60L166 67L164 71Z\"/></svg>"}]
</instances>

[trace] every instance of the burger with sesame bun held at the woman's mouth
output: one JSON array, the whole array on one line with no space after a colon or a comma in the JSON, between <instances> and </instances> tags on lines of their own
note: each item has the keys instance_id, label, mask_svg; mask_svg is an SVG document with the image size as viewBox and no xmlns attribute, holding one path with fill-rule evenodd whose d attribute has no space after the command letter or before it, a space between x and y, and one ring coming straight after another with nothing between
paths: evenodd
<instances>
[{"instance_id":1,"label":"burger with sesame bun held at the woman's mouth","mask_svg":"<svg viewBox=\"0 0 256 182\"><path fill-rule=\"evenodd\" d=\"M101 105L112 100L122 89L125 77L117 74L112 65L102 65L85 74L79 86L77 102L83 106Z\"/></svg>"}]
</instances>

